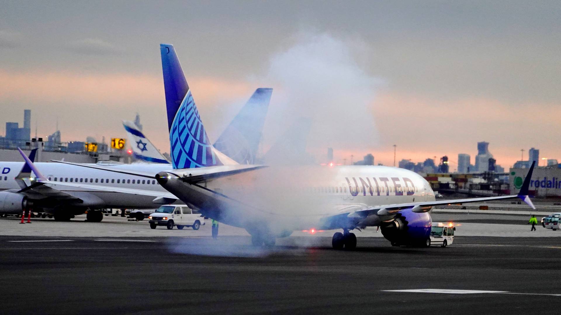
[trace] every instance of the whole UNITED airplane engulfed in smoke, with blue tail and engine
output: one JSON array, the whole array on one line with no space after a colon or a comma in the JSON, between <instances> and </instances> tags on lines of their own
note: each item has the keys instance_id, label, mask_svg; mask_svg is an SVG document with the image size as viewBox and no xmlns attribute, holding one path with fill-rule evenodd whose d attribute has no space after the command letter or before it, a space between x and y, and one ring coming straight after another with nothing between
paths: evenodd
<instances>
[{"instance_id":1,"label":"whole UNITED airplane engulfed in smoke, with blue tail and engine","mask_svg":"<svg viewBox=\"0 0 561 315\"><path fill-rule=\"evenodd\" d=\"M168 56L175 53L171 45L160 49L165 69ZM181 71L168 70L171 76ZM226 165L211 150L191 90L178 102L168 97L172 87L165 89L172 170L155 174L81 166L156 179L169 192L159 197L180 198L205 216L245 228L255 245L273 245L294 230L342 229L333 235L333 247L353 249L356 235L350 231L366 226L379 226L393 245L429 245L428 212L433 206L521 198L535 209L528 197L533 164L517 195L446 201L435 201L429 183L419 174L388 166ZM35 174L38 182L48 183Z\"/></svg>"}]
</instances>

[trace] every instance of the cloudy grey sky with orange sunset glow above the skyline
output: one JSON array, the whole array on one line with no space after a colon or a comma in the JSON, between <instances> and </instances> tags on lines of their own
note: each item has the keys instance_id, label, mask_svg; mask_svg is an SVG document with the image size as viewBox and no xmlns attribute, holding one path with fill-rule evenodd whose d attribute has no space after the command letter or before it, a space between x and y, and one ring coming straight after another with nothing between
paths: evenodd
<instances>
[{"instance_id":1,"label":"cloudy grey sky with orange sunset glow above the skyline","mask_svg":"<svg viewBox=\"0 0 561 315\"><path fill-rule=\"evenodd\" d=\"M273 87L265 150L302 115L321 122L318 161L330 146L393 165L396 144L397 160L447 155L453 169L480 141L503 167L530 147L561 159L558 2L25 3L3 4L0 110L33 110L43 137L57 120L63 141L122 137L139 112L169 151L158 45L171 43L213 139Z\"/></svg>"}]
</instances>

